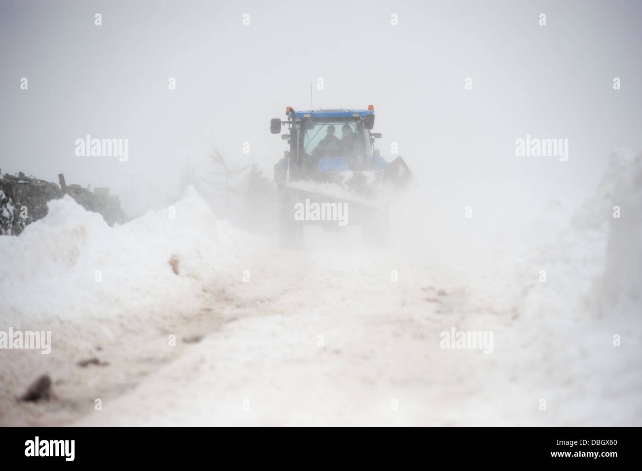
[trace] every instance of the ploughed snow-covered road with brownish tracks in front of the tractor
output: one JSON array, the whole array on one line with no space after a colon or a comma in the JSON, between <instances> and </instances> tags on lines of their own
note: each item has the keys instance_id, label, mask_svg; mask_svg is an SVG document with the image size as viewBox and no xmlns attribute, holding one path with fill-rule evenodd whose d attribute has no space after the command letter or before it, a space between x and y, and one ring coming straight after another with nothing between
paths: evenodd
<instances>
[{"instance_id":1,"label":"ploughed snow-covered road with brownish tracks in front of the tractor","mask_svg":"<svg viewBox=\"0 0 642 471\"><path fill-rule=\"evenodd\" d=\"M234 269L238 283L233 286L213 286L162 313L136 312L82 323L67 320L68 338L62 342L66 347L56 348L46 363L40 358L46 355L36 352L3 352L13 355L12 373L25 381L46 368L56 397L39 403L5 397L1 422L603 425L634 421L619 412L616 391L602 384L603 378L600 389L591 390L594 375L627 372L595 365L583 358L581 349L565 347L581 343L586 332L599 330L598 326L525 319L516 307L510 303L500 307L502 303L487 293L498 293L501 280L458 272L416 254L400 257L358 246L315 252L273 249L254 261L249 281L243 282L246 267L239 261ZM440 332L453 327L492 331L492 353L484 354L481 348L440 348ZM175 347L169 345L171 335L177 338ZM616 354L612 347L603 352ZM31 359L25 369L26 355ZM76 364L93 356L108 364L85 368ZM607 358L606 363L617 364L617 359ZM542 398L548 402L546 411L540 410ZM591 410L598 412L587 413Z\"/></svg>"}]
</instances>

